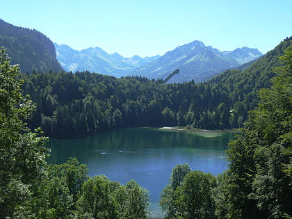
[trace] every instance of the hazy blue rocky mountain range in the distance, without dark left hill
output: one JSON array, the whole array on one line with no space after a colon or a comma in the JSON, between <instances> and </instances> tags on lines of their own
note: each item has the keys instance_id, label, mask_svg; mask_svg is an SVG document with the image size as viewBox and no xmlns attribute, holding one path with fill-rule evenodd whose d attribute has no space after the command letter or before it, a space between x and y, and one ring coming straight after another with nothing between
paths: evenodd
<instances>
[{"instance_id":1,"label":"hazy blue rocky mountain range in the distance, without dark left hill","mask_svg":"<svg viewBox=\"0 0 292 219\"><path fill-rule=\"evenodd\" d=\"M262 56L258 49L242 47L234 51L219 51L206 47L201 41L193 41L163 56L124 58L120 54L107 54L99 47L77 51L71 47L55 43L57 59L67 71L96 72L112 76L145 76L149 79L165 79L180 69L168 83L181 83L194 80L206 81L212 76L230 68L238 67Z\"/></svg>"}]
</instances>

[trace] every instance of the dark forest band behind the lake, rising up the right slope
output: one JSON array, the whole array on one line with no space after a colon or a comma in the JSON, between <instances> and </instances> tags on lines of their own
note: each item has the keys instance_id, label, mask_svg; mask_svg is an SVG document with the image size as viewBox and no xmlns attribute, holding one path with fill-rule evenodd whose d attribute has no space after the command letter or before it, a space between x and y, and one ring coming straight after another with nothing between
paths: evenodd
<instances>
[{"instance_id":1,"label":"dark forest band behind the lake, rising up the right slope","mask_svg":"<svg viewBox=\"0 0 292 219\"><path fill-rule=\"evenodd\" d=\"M291 38L290 38L291 39ZM192 126L200 129L243 127L270 86L272 67L291 42L286 38L247 70L229 70L206 83L163 84L162 80L51 72L23 74L24 95L37 108L31 128L53 138L79 138L122 127Z\"/></svg>"}]
</instances>

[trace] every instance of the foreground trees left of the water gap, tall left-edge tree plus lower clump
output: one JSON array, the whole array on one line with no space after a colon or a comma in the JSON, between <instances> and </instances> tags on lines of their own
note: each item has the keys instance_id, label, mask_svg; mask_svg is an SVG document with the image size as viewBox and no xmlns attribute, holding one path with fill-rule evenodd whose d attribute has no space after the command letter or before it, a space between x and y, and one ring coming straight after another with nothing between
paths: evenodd
<instances>
[{"instance_id":1,"label":"foreground trees left of the water gap, tall left-edge tree plus lower clump","mask_svg":"<svg viewBox=\"0 0 292 219\"><path fill-rule=\"evenodd\" d=\"M24 122L34 107L18 73L0 49L0 218L147 218L149 193L135 181L89 178L76 159L47 165L47 138Z\"/></svg>"}]
</instances>

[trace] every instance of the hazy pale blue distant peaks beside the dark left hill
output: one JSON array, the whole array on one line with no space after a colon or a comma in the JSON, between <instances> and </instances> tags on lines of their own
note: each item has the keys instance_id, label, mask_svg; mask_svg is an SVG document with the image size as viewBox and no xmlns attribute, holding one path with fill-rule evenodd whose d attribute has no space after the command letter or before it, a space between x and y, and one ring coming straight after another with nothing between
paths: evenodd
<instances>
[{"instance_id":1,"label":"hazy pale blue distant peaks beside the dark left hill","mask_svg":"<svg viewBox=\"0 0 292 219\"><path fill-rule=\"evenodd\" d=\"M77 51L71 47L55 43L57 59L60 65L68 72L87 70L99 74L109 74L112 76L127 76L137 67L145 65L160 56L141 58L133 56L124 58L116 52L107 54L106 51L99 47L83 49Z\"/></svg>"}]
</instances>

